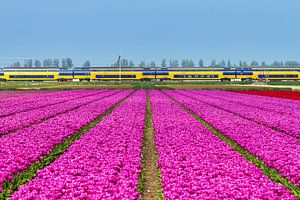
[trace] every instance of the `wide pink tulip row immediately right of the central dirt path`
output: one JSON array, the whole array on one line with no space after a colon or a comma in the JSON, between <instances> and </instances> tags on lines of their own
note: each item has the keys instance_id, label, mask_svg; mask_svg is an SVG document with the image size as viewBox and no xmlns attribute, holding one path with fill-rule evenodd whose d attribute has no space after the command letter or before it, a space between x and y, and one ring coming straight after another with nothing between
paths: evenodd
<instances>
[{"instance_id":1,"label":"wide pink tulip row immediately right of the central dirt path","mask_svg":"<svg viewBox=\"0 0 300 200\"><path fill-rule=\"evenodd\" d=\"M166 199L294 199L161 92L151 104Z\"/></svg>"}]
</instances>

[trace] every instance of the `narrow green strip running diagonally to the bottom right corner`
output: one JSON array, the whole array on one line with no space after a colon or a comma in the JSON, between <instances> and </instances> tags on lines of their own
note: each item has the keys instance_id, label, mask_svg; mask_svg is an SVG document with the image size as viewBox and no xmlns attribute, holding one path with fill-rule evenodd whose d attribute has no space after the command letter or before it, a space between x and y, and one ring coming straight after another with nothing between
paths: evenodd
<instances>
[{"instance_id":1,"label":"narrow green strip running diagonally to the bottom right corner","mask_svg":"<svg viewBox=\"0 0 300 200\"><path fill-rule=\"evenodd\" d=\"M282 184L286 187L286 189L290 190L292 194L296 196L297 199L300 200L300 187L295 186L293 183L290 183L287 178L281 176L281 173L277 171L274 168L268 167L267 164L254 156L252 153L247 151L246 149L242 148L240 145L238 145L233 140L225 137L220 131L215 129L212 125L201 119L198 115L196 115L193 111L186 108L184 105L182 105L180 102L178 102L173 97L169 96L168 94L164 93L165 96L170 98L172 101L174 101L176 104L178 104L182 109L184 109L186 112L188 112L191 116L193 116L197 121L199 121L201 124L203 124L205 127L207 127L212 133L214 133L216 136L218 136L221 140L226 142L229 146L235 149L236 152L241 154L244 158L246 158L248 161L253 163L256 167L260 168L263 171L263 174L269 177L272 181L274 181L277 184Z\"/></svg>"}]
</instances>

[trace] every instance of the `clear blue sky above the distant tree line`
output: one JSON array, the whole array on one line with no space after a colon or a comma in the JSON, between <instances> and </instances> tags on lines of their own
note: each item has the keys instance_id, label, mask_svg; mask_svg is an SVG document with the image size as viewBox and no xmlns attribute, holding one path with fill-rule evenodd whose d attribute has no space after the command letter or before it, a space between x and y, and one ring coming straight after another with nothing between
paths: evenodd
<instances>
[{"instance_id":1,"label":"clear blue sky above the distant tree line","mask_svg":"<svg viewBox=\"0 0 300 200\"><path fill-rule=\"evenodd\" d=\"M299 0L2 0L0 63L300 60Z\"/></svg>"}]
</instances>

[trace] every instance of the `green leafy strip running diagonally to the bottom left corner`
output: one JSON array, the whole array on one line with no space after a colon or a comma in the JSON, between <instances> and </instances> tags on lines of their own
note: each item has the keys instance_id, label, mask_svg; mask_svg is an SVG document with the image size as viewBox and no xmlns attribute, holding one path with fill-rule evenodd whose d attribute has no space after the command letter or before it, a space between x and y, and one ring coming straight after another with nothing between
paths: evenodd
<instances>
[{"instance_id":1,"label":"green leafy strip running diagonally to the bottom left corner","mask_svg":"<svg viewBox=\"0 0 300 200\"><path fill-rule=\"evenodd\" d=\"M13 180L6 180L2 185L2 193L0 193L0 199L7 199L13 195L15 191L17 191L22 185L29 183L32 179L37 176L38 170L41 170L51 163L53 163L61 154L66 152L68 148L77 140L79 140L85 133L87 133L90 129L96 126L100 121L102 121L106 116L111 114L118 106L120 106L126 99L128 99L131 95L130 93L124 99L119 101L116 105L108 109L103 115L98 117L96 120L91 122L90 124L83 127L80 131L75 133L74 135L68 137L64 142L56 145L53 150L46 156L42 158L42 160L33 163L30 167L22 172L13 176Z\"/></svg>"}]
</instances>

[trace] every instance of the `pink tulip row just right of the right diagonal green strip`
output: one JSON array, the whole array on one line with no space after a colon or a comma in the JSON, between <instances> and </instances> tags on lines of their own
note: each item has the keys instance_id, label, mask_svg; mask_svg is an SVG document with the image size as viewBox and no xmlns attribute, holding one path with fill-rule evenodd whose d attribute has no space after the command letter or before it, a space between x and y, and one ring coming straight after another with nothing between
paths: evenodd
<instances>
[{"instance_id":1,"label":"pink tulip row just right of the right diagonal green strip","mask_svg":"<svg viewBox=\"0 0 300 200\"><path fill-rule=\"evenodd\" d=\"M300 141L222 109L166 91L200 118L300 186Z\"/></svg>"}]
</instances>

